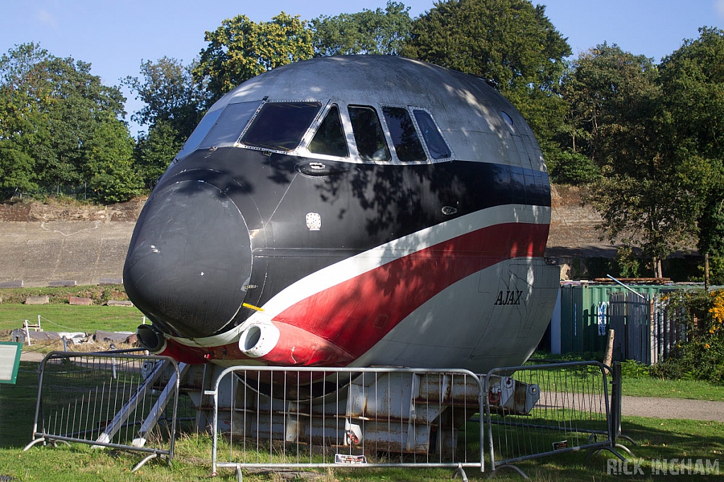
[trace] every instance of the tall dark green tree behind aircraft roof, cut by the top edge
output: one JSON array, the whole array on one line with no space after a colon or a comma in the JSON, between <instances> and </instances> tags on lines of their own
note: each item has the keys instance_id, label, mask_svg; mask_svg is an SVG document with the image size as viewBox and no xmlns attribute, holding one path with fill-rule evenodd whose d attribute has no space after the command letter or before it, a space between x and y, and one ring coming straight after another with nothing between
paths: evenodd
<instances>
[{"instance_id":1,"label":"tall dark green tree behind aircraft roof, cut by the top edge","mask_svg":"<svg viewBox=\"0 0 724 482\"><path fill-rule=\"evenodd\" d=\"M402 54L486 79L521 111L544 155L555 152L565 115L558 88L571 47L545 7L527 0L440 2L413 22Z\"/></svg>"}]
</instances>

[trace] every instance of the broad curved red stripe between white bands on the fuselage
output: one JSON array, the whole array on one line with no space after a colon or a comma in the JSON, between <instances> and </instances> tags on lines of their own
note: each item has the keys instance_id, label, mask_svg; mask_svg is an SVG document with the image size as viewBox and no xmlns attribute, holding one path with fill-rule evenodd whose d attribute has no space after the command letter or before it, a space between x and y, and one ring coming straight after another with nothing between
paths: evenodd
<instances>
[{"instance_id":1,"label":"broad curved red stripe between white bands on the fuselage","mask_svg":"<svg viewBox=\"0 0 724 482\"><path fill-rule=\"evenodd\" d=\"M548 230L547 224L508 223L472 231L315 293L274 321L311 332L358 358L453 283L506 259L542 257Z\"/></svg>"}]
</instances>

